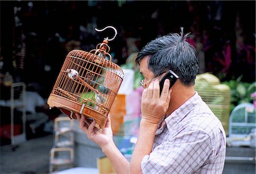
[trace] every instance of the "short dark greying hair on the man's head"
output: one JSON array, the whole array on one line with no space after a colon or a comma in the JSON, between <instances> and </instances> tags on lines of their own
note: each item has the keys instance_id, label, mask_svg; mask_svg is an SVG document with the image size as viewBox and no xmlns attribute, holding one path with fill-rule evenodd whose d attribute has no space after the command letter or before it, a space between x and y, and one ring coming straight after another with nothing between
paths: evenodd
<instances>
[{"instance_id":1,"label":"short dark greying hair on the man's head","mask_svg":"<svg viewBox=\"0 0 256 174\"><path fill-rule=\"evenodd\" d=\"M142 48L135 61L139 64L145 56L150 56L148 69L155 77L171 69L180 77L182 84L195 85L199 60L195 48L185 40L188 36L189 33L183 35L181 27L180 35L172 33L156 38Z\"/></svg>"}]
</instances>

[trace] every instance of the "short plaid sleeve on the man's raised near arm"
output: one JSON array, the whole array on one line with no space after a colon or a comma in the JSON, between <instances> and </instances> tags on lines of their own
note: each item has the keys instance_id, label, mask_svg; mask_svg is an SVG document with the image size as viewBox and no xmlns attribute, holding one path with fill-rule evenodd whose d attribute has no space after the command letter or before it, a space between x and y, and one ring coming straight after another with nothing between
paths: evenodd
<instances>
[{"instance_id":1,"label":"short plaid sleeve on the man's raised near arm","mask_svg":"<svg viewBox=\"0 0 256 174\"><path fill-rule=\"evenodd\" d=\"M192 173L210 162L213 145L209 135L200 130L179 133L155 147L142 159L143 173Z\"/></svg>"}]
</instances>

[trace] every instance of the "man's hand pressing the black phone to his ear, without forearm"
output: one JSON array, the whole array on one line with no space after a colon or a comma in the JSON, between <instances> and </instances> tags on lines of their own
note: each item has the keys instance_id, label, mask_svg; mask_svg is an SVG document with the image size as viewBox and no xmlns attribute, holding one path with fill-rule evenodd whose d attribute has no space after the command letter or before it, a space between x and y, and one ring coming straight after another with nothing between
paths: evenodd
<instances>
[{"instance_id":1,"label":"man's hand pressing the black phone to his ear, without forearm","mask_svg":"<svg viewBox=\"0 0 256 174\"><path fill-rule=\"evenodd\" d=\"M161 95L159 80L156 79L150 83L148 88L142 93L142 119L148 123L156 124L160 122L169 107L171 100L171 90L168 90L170 81L164 81L164 86Z\"/></svg>"}]
</instances>

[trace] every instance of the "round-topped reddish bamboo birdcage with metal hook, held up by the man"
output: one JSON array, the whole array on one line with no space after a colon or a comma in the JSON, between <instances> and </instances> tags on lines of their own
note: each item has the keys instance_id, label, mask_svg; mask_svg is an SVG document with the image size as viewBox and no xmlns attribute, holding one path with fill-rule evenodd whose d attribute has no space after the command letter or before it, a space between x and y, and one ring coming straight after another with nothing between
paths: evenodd
<instances>
[{"instance_id":1,"label":"round-topped reddish bamboo birdcage with metal hook, held up by the man","mask_svg":"<svg viewBox=\"0 0 256 174\"><path fill-rule=\"evenodd\" d=\"M117 31L113 28L115 36ZM94 119L96 127L105 127L110 108L122 84L124 73L112 61L105 38L90 52L74 49L68 53L47 100L49 107L57 107L69 118L75 113ZM109 59L109 60L108 60Z\"/></svg>"}]
</instances>

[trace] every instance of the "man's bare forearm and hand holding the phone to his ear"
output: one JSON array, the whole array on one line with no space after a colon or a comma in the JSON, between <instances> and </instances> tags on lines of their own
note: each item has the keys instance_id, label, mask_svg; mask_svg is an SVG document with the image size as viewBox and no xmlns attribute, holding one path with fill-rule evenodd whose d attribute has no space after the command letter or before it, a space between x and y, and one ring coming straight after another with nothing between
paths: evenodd
<instances>
[{"instance_id":1,"label":"man's bare forearm and hand holding the phone to his ear","mask_svg":"<svg viewBox=\"0 0 256 174\"><path fill-rule=\"evenodd\" d=\"M155 139L155 131L160 120L169 107L171 90L168 90L170 81L164 81L161 96L159 80L150 83L142 93L142 119L139 127L139 136L131 156L130 173L142 173L141 163L144 156L149 155Z\"/></svg>"}]
</instances>

